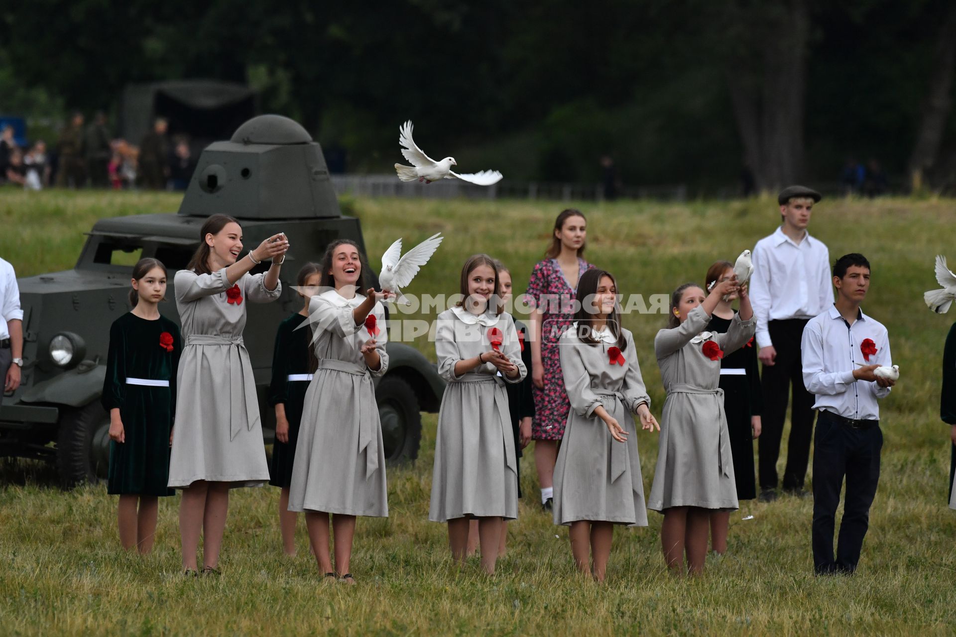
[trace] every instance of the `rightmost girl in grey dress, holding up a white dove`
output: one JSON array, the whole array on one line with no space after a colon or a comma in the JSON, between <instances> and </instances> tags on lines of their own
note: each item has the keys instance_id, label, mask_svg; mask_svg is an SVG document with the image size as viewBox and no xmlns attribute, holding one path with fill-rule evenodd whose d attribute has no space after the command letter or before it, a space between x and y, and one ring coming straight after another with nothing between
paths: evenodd
<instances>
[{"instance_id":1,"label":"rightmost girl in grey dress, holding up a white dove","mask_svg":"<svg viewBox=\"0 0 956 637\"><path fill-rule=\"evenodd\" d=\"M736 293L740 311L727 332L706 329L710 314L726 294ZM691 573L704 570L710 514L737 508L727 417L720 383L720 359L750 340L755 329L747 287L736 277L714 285L710 294L694 284L671 296L667 329L654 338L654 350L667 399L663 405L657 468L648 508L662 511L664 559L684 572L684 550Z\"/></svg>"}]
</instances>

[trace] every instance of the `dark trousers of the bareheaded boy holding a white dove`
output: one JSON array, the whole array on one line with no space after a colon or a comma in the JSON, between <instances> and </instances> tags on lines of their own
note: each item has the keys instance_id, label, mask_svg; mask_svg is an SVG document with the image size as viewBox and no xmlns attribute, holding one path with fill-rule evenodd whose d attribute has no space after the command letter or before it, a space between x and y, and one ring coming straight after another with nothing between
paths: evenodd
<instances>
[{"instance_id":1,"label":"dark trousers of the bareheaded boy holding a white dove","mask_svg":"<svg viewBox=\"0 0 956 637\"><path fill-rule=\"evenodd\" d=\"M821 411L814 445L814 568L818 574L852 573L857 570L870 525L870 505L880 481L883 434L879 425L854 429ZM844 476L846 497L834 560L836 507Z\"/></svg>"}]
</instances>

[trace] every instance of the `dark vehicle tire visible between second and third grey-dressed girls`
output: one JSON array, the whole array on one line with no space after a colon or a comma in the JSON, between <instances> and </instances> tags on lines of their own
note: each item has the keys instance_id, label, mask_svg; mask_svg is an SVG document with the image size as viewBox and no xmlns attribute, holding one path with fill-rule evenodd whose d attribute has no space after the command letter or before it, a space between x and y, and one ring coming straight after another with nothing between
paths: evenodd
<instances>
[{"instance_id":1,"label":"dark vehicle tire visible between second and third grey-dressed girls","mask_svg":"<svg viewBox=\"0 0 956 637\"><path fill-rule=\"evenodd\" d=\"M398 464L418 457L422 412L411 385L398 375L385 374L375 388L385 460Z\"/></svg>"}]
</instances>

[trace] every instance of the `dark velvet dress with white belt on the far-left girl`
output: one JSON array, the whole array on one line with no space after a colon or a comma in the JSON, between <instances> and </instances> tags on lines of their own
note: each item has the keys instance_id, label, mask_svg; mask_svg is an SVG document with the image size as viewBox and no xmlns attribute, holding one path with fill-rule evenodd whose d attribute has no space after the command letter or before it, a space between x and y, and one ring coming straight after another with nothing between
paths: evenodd
<instances>
[{"instance_id":1,"label":"dark velvet dress with white belt on the far-left girl","mask_svg":"<svg viewBox=\"0 0 956 637\"><path fill-rule=\"evenodd\" d=\"M163 333L172 337L163 337ZM163 344L171 346L166 350ZM120 409L125 442L110 441L107 493L172 496L169 431L176 414L176 370L183 341L176 324L127 312L110 328L102 404ZM169 387L128 385L126 378L168 380Z\"/></svg>"}]
</instances>

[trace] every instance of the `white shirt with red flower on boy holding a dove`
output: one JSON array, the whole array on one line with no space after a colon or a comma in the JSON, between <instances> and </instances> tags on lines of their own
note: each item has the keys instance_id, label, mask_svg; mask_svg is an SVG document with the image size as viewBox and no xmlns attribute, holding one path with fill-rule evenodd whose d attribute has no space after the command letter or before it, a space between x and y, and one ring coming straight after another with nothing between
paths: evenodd
<instances>
[{"instance_id":1,"label":"white shirt with red flower on boy holding a dove","mask_svg":"<svg viewBox=\"0 0 956 637\"><path fill-rule=\"evenodd\" d=\"M877 353L865 360L860 344L871 339ZM836 306L815 316L803 329L800 344L803 358L803 384L815 394L814 409L842 415L854 420L879 420L878 398L890 393L874 381L856 380L853 371L862 365L893 364L886 328L876 319L859 311L852 325L840 315Z\"/></svg>"}]
</instances>

